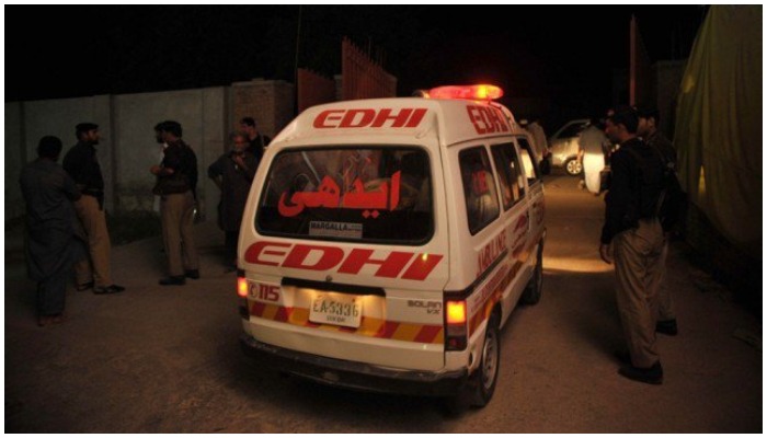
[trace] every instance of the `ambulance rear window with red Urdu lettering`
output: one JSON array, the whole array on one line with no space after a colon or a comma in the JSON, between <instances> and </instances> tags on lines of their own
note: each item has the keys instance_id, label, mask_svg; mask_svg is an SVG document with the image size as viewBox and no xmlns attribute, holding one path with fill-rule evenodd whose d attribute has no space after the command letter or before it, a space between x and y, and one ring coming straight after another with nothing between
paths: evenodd
<instances>
[{"instance_id":1,"label":"ambulance rear window with red Urdu lettering","mask_svg":"<svg viewBox=\"0 0 767 438\"><path fill-rule=\"evenodd\" d=\"M428 155L414 147L278 153L261 194L260 233L421 244L434 230Z\"/></svg>"}]
</instances>

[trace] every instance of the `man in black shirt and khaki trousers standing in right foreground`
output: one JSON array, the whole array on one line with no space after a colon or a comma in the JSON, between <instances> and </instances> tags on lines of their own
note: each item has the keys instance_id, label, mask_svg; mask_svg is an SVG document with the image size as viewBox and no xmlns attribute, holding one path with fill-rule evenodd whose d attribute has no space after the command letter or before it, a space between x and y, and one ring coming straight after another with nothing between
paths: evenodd
<instances>
[{"instance_id":1,"label":"man in black shirt and khaki trousers standing in right foreground","mask_svg":"<svg viewBox=\"0 0 767 438\"><path fill-rule=\"evenodd\" d=\"M615 260L616 300L630 354L630 364L618 372L661 384L663 368L655 345L655 320L663 251L663 229L657 218L663 162L637 137L638 124L637 112L630 106L617 107L607 118L605 132L620 143L620 149L611 157L613 177L605 196L599 255L608 264Z\"/></svg>"}]
</instances>

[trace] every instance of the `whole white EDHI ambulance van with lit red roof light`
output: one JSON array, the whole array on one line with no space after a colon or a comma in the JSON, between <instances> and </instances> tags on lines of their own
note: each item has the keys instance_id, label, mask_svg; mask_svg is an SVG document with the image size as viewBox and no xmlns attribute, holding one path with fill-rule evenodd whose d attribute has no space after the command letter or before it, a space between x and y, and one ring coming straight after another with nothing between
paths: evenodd
<instances>
[{"instance_id":1,"label":"whole white EDHI ambulance van with lit red roof light","mask_svg":"<svg viewBox=\"0 0 767 438\"><path fill-rule=\"evenodd\" d=\"M272 141L239 240L243 349L355 389L483 406L541 292L543 185L490 85L311 107Z\"/></svg>"}]
</instances>

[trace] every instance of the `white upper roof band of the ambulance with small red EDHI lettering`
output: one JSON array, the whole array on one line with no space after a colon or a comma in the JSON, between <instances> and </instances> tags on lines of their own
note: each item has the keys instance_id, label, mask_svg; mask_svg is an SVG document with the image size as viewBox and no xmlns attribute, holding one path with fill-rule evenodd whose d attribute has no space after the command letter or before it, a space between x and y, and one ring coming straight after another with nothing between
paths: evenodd
<instances>
[{"instance_id":1,"label":"white upper roof band of the ambulance with small red EDHI lettering","mask_svg":"<svg viewBox=\"0 0 767 438\"><path fill-rule=\"evenodd\" d=\"M518 130L512 113L494 103L463 99L371 99L310 107L283 129L273 143L293 147L382 142L386 137L389 141L413 145L416 139L437 137L440 145L449 146Z\"/></svg>"}]
</instances>

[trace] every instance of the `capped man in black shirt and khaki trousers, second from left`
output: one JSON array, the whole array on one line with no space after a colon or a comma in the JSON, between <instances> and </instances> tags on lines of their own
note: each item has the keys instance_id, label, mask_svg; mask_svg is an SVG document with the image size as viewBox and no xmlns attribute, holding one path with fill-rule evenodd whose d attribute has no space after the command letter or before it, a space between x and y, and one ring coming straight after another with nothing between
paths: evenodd
<instances>
[{"instance_id":1,"label":"capped man in black shirt and khaki trousers, second from left","mask_svg":"<svg viewBox=\"0 0 767 438\"><path fill-rule=\"evenodd\" d=\"M125 290L112 283L110 233L104 215L104 177L96 158L99 125L81 123L76 126L78 143L64 158L64 170L75 180L82 197L75 203L88 237L85 257L75 265L77 290L93 288L93 293L115 293Z\"/></svg>"}]
</instances>

